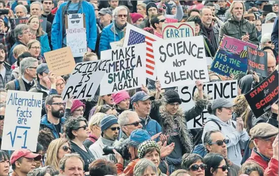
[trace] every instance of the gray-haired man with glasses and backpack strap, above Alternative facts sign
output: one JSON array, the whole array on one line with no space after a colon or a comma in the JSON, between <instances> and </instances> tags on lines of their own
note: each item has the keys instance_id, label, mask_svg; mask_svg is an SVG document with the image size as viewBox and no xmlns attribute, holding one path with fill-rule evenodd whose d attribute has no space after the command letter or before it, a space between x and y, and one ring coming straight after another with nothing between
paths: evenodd
<instances>
[{"instance_id":1,"label":"gray-haired man with glasses and backpack strap, above Alternative facts sign","mask_svg":"<svg viewBox=\"0 0 279 176\"><path fill-rule=\"evenodd\" d=\"M29 91L34 85L38 61L33 57L26 57L20 62L21 77L5 85L6 90Z\"/></svg>"}]
</instances>

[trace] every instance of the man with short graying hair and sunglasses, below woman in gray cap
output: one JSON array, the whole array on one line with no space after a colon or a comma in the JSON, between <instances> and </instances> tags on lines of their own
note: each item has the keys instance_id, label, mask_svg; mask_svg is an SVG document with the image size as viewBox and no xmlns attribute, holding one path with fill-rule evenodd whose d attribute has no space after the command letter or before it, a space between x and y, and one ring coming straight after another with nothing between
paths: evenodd
<instances>
[{"instance_id":1,"label":"man with short graying hair and sunglasses, below woman in gray cap","mask_svg":"<svg viewBox=\"0 0 279 176\"><path fill-rule=\"evenodd\" d=\"M219 130L211 130L206 132L204 138L204 145L207 153L219 153L221 154L229 165L228 171L231 176L237 176L240 171L240 166L234 164L228 159L227 144L228 139L225 139L224 135Z\"/></svg>"}]
</instances>

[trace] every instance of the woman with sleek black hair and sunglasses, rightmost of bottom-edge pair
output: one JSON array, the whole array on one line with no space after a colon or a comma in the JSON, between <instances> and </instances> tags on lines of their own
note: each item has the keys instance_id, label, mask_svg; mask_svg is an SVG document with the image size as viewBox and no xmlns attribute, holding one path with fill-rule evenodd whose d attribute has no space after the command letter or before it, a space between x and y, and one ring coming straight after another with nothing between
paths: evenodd
<instances>
[{"instance_id":1,"label":"woman with sleek black hair and sunglasses, rightmost of bottom-edge pair","mask_svg":"<svg viewBox=\"0 0 279 176\"><path fill-rule=\"evenodd\" d=\"M222 155L209 153L204 157L207 165L205 176L227 176L228 166Z\"/></svg>"}]
</instances>

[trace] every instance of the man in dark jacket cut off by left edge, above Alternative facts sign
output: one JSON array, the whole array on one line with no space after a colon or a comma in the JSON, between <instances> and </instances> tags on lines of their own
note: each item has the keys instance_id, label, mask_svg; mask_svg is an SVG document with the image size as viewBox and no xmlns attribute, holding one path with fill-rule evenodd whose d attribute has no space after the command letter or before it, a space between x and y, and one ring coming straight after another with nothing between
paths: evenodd
<instances>
[{"instance_id":1,"label":"man in dark jacket cut off by left edge, above Alternative facts sign","mask_svg":"<svg viewBox=\"0 0 279 176\"><path fill-rule=\"evenodd\" d=\"M11 65L5 62L6 52L4 44L0 43L0 89L4 89L11 79Z\"/></svg>"}]
</instances>

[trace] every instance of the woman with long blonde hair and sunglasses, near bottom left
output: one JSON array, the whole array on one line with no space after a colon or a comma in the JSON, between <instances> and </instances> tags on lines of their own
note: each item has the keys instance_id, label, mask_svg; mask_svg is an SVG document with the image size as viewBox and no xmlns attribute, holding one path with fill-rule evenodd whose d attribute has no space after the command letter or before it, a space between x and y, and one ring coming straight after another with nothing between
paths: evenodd
<instances>
[{"instance_id":1,"label":"woman with long blonde hair and sunglasses, near bottom left","mask_svg":"<svg viewBox=\"0 0 279 176\"><path fill-rule=\"evenodd\" d=\"M68 139L58 138L53 140L47 151L46 166L51 165L59 170L59 162L65 154L71 153L71 147Z\"/></svg>"}]
</instances>

